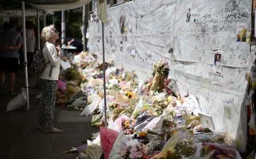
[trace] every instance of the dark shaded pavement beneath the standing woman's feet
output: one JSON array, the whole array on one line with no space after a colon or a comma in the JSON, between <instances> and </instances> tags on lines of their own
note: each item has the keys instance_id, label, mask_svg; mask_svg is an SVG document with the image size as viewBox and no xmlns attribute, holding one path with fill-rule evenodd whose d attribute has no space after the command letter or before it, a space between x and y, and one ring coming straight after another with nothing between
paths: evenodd
<instances>
[{"instance_id":1,"label":"dark shaded pavement beneath the standing woman's feet","mask_svg":"<svg viewBox=\"0 0 256 159\"><path fill-rule=\"evenodd\" d=\"M90 117L79 116L80 111L72 108L55 108L55 127L63 129L61 134L44 133L36 129L38 124L40 94L37 78L30 77L30 111L24 106L18 111L6 112L7 103L16 95L9 95L9 82L0 87L0 158L53 159L76 158L78 153L61 154L63 151L83 145L82 141L92 137L98 128L91 127ZM24 83L23 70L19 69L15 90L21 92Z\"/></svg>"}]
</instances>

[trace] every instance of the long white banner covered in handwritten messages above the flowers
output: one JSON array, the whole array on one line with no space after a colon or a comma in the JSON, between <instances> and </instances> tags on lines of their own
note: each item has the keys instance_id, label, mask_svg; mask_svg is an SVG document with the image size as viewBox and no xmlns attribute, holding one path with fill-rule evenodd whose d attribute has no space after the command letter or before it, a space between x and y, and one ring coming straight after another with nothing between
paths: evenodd
<instances>
[{"instance_id":1,"label":"long white banner covered in handwritten messages above the flowers","mask_svg":"<svg viewBox=\"0 0 256 159\"><path fill-rule=\"evenodd\" d=\"M135 70L139 80L152 76L159 60L170 62L169 76L185 83L205 104L216 131L229 132L246 149L245 73L250 71L252 1L138 0L108 9L109 23L90 23L89 51ZM255 20L256 21L256 20ZM256 34L255 34L256 35ZM207 103L205 102L207 101ZM221 110L221 111L220 111Z\"/></svg>"}]
</instances>

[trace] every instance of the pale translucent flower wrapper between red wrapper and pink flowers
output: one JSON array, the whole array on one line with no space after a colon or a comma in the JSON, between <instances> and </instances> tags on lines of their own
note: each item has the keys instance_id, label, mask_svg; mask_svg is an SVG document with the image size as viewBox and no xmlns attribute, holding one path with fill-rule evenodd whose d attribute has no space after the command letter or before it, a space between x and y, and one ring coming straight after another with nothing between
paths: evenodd
<instances>
[{"instance_id":1,"label":"pale translucent flower wrapper between red wrapper and pink flowers","mask_svg":"<svg viewBox=\"0 0 256 159\"><path fill-rule=\"evenodd\" d=\"M129 141L129 138L123 133L119 133L117 136L117 139L115 139L115 143L113 145L113 148L109 154L110 159L121 159L121 156L119 151L126 146L126 143Z\"/></svg>"}]
</instances>

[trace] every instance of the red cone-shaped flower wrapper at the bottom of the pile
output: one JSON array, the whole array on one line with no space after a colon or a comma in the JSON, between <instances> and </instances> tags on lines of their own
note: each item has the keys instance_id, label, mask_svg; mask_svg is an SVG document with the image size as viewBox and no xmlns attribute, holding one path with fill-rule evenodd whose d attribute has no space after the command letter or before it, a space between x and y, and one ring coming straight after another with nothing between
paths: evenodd
<instances>
[{"instance_id":1,"label":"red cone-shaped flower wrapper at the bottom of the pile","mask_svg":"<svg viewBox=\"0 0 256 159\"><path fill-rule=\"evenodd\" d=\"M104 151L105 158L109 158L110 151L117 139L118 132L113 129L100 127L101 147Z\"/></svg>"}]
</instances>

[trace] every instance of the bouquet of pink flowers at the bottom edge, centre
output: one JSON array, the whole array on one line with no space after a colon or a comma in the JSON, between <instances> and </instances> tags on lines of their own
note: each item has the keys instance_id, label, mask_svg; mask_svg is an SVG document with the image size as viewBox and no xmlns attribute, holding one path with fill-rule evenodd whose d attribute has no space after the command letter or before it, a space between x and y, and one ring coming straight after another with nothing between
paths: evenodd
<instances>
[{"instance_id":1,"label":"bouquet of pink flowers at the bottom edge, centre","mask_svg":"<svg viewBox=\"0 0 256 159\"><path fill-rule=\"evenodd\" d=\"M137 143L134 145L126 145L119 151L119 155L125 159L144 159L147 157L148 148L146 145Z\"/></svg>"}]
</instances>

